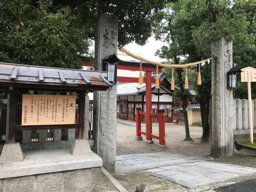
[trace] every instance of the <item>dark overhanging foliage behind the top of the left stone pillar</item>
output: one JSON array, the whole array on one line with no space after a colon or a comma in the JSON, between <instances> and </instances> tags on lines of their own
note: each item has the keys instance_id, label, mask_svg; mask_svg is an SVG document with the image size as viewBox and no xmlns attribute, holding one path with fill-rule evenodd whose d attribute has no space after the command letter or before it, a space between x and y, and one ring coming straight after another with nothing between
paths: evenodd
<instances>
[{"instance_id":1,"label":"dark overhanging foliage behind the top of the left stone pillar","mask_svg":"<svg viewBox=\"0 0 256 192\"><path fill-rule=\"evenodd\" d=\"M37 1L37 0L34 0ZM89 36L94 37L96 20L100 13L118 16L118 44L124 46L135 41L146 43L152 35L152 26L160 10L172 0L54 0L55 6L71 6L82 15L80 21L91 29Z\"/></svg>"}]
</instances>

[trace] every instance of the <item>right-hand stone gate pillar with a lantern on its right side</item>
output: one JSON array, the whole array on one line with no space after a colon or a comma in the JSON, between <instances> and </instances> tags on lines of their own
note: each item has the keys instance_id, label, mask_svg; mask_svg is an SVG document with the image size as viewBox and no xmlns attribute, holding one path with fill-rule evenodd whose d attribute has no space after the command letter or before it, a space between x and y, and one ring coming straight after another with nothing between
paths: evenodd
<instances>
[{"instance_id":1,"label":"right-hand stone gate pillar with a lantern on its right side","mask_svg":"<svg viewBox=\"0 0 256 192\"><path fill-rule=\"evenodd\" d=\"M227 72L232 68L232 40L212 42L212 156L233 153L233 90L227 89Z\"/></svg>"}]
</instances>

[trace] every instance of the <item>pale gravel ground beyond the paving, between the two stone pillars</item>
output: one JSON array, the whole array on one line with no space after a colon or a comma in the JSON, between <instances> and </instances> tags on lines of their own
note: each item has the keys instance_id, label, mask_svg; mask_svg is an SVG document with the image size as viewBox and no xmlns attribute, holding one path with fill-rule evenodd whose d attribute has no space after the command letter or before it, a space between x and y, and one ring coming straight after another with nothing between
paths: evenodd
<instances>
[{"instance_id":1,"label":"pale gravel ground beyond the paving, between the two stone pillars","mask_svg":"<svg viewBox=\"0 0 256 192\"><path fill-rule=\"evenodd\" d=\"M146 127L142 127L145 131ZM190 137L200 138L202 136L202 127L190 126ZM152 127L152 132L158 135L158 126ZM154 144L145 144L145 136L143 141L136 141L136 127L122 123L117 123L117 155L138 154L152 152L173 152L186 154L190 156L205 157L209 156L209 143L201 142L199 139L194 141L183 141L185 138L184 125L167 125L165 126L166 146L159 147L158 140L154 140Z\"/></svg>"}]
</instances>

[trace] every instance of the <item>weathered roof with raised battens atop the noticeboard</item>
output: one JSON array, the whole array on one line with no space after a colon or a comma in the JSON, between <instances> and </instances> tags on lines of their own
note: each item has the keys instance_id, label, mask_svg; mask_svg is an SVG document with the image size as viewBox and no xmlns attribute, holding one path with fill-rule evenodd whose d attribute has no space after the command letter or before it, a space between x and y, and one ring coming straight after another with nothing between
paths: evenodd
<instances>
[{"instance_id":1,"label":"weathered roof with raised battens atop the noticeboard","mask_svg":"<svg viewBox=\"0 0 256 192\"><path fill-rule=\"evenodd\" d=\"M47 90L107 90L108 73L0 62L0 87Z\"/></svg>"}]
</instances>

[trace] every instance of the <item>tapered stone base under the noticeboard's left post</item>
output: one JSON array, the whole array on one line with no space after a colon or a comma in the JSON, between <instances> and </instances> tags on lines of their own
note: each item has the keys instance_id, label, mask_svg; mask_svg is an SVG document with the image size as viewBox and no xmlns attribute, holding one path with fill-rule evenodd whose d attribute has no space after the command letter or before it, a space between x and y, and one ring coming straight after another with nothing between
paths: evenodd
<instances>
[{"instance_id":1,"label":"tapered stone base under the noticeboard's left post","mask_svg":"<svg viewBox=\"0 0 256 192\"><path fill-rule=\"evenodd\" d=\"M22 161L23 158L24 157L20 143L4 144L0 156L0 163Z\"/></svg>"}]
</instances>

